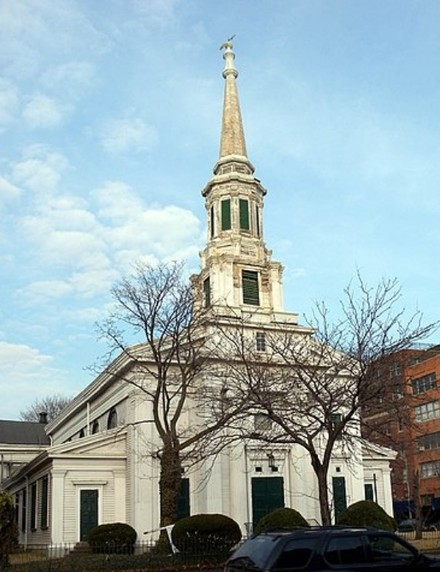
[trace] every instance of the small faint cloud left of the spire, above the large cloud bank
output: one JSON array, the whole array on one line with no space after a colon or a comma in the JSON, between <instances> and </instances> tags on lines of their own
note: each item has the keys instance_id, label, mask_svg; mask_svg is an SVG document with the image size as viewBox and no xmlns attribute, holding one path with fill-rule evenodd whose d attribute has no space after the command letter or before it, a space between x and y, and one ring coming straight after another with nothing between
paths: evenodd
<instances>
[{"instance_id":1,"label":"small faint cloud left of the spire, above the large cloud bank","mask_svg":"<svg viewBox=\"0 0 440 572\"><path fill-rule=\"evenodd\" d=\"M109 153L149 150L156 141L155 128L139 117L111 120L101 130L101 145Z\"/></svg>"}]
</instances>

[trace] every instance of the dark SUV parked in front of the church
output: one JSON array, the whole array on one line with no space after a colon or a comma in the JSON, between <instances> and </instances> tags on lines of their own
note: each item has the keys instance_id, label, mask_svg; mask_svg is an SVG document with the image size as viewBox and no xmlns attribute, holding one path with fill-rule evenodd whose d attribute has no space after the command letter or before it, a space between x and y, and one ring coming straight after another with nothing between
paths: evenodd
<instances>
[{"instance_id":1,"label":"dark SUV parked in front of the church","mask_svg":"<svg viewBox=\"0 0 440 572\"><path fill-rule=\"evenodd\" d=\"M229 558L225 572L424 572L440 558L419 552L392 532L363 527L311 527L258 534Z\"/></svg>"}]
</instances>

